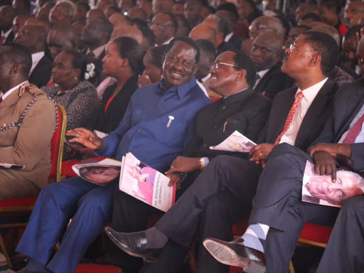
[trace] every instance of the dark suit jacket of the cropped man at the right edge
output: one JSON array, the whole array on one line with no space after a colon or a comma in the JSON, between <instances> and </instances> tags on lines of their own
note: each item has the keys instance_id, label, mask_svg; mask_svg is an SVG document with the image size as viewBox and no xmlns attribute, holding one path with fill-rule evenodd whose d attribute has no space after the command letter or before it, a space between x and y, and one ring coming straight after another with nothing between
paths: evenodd
<instances>
[{"instance_id":1,"label":"dark suit jacket of the cropped man at the right edge","mask_svg":"<svg viewBox=\"0 0 364 273\"><path fill-rule=\"evenodd\" d=\"M333 115L328 120L320 136L314 141L317 143L337 143L343 133L348 131L350 123L364 105L364 79L343 85L336 95ZM351 145L353 168L355 171L364 170L364 143Z\"/></svg>"}]
</instances>

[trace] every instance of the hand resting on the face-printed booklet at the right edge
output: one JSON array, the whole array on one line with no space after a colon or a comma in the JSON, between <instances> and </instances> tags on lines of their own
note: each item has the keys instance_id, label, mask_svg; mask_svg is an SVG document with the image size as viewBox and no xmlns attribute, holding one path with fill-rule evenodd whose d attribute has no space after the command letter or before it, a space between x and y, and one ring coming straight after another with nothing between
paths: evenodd
<instances>
[{"instance_id":1,"label":"hand resting on the face-printed booklet at the right edge","mask_svg":"<svg viewBox=\"0 0 364 273\"><path fill-rule=\"evenodd\" d=\"M336 182L336 162L333 156L325 151L314 153L315 173L320 176L331 176L333 183Z\"/></svg>"}]
</instances>

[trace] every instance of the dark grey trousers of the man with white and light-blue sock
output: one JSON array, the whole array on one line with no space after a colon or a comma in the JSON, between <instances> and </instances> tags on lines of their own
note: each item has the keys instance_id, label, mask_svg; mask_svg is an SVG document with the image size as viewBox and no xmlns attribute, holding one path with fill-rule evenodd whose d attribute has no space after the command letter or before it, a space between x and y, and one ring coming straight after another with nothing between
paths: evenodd
<instances>
[{"instance_id":1,"label":"dark grey trousers of the man with white and light-blue sock","mask_svg":"<svg viewBox=\"0 0 364 273\"><path fill-rule=\"evenodd\" d=\"M301 201L306 161L303 151L281 144L274 148L260 177L250 223L269 225L264 245L267 272L287 272L304 222L329 223L336 208Z\"/></svg>"}]
</instances>

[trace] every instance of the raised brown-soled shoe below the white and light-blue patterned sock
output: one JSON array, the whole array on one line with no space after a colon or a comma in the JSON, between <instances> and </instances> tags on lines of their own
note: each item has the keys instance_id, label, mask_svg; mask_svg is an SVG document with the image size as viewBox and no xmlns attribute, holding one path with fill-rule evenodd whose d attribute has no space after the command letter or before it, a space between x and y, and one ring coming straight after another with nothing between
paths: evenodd
<instances>
[{"instance_id":1,"label":"raised brown-soled shoe below the white and light-blue patterned sock","mask_svg":"<svg viewBox=\"0 0 364 273\"><path fill-rule=\"evenodd\" d=\"M208 250L208 252L210 252L210 254L222 264L240 267L245 273L265 273L264 264L252 259L240 257L240 255L238 255L237 252L232 250L230 247L220 245L218 242L209 240L203 242L203 245L206 250Z\"/></svg>"}]
</instances>

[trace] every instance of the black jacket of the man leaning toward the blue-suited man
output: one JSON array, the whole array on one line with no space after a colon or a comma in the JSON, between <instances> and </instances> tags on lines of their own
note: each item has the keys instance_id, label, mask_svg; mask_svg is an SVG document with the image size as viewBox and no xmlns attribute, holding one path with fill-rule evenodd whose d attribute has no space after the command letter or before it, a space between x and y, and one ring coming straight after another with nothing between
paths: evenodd
<instances>
[{"instance_id":1,"label":"black jacket of the man leaning toward the blue-suited man","mask_svg":"<svg viewBox=\"0 0 364 273\"><path fill-rule=\"evenodd\" d=\"M196 134L188 146L186 156L245 156L243 153L211 150L210 146L220 144L235 130L255 141L264 127L270 106L271 101L267 97L249 88L201 109L196 116Z\"/></svg>"}]
</instances>

